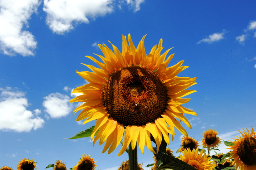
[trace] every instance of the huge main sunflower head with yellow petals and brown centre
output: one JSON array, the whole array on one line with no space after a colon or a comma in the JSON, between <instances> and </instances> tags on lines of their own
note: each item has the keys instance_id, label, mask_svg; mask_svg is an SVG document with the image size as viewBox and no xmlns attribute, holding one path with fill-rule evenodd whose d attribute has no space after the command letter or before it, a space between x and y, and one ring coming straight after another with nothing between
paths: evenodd
<instances>
[{"instance_id":1,"label":"huge main sunflower head with yellow petals and brown centre","mask_svg":"<svg viewBox=\"0 0 256 170\"><path fill-rule=\"evenodd\" d=\"M97 119L96 126L91 134L91 140L97 130L93 144L100 139L99 145L105 143L103 153L109 148L111 153L124 136L124 144L118 156L124 153L131 143L132 149L138 145L143 153L146 146L155 153L150 135L155 138L157 148L160 147L162 136L169 144L169 134L174 138L174 127L182 134L188 135L181 126L183 121L189 128L191 125L184 113L197 115L181 104L190 99L181 99L195 90L185 90L196 84L196 78L177 77L176 75L188 66L181 66L183 61L167 67L174 54L166 60L167 50L162 55L162 39L146 55L144 48L145 36L135 48L130 34L128 42L122 36L123 49L120 52L112 45L111 51L105 44L99 44L104 56L97 55L103 61L97 61L86 56L101 68L86 65L93 72L82 71L77 73L89 82L77 87L72 93L81 93L70 102L85 102L74 112L82 110L77 121L86 119L84 124ZM176 120L179 119L179 120Z\"/></svg>"}]
</instances>

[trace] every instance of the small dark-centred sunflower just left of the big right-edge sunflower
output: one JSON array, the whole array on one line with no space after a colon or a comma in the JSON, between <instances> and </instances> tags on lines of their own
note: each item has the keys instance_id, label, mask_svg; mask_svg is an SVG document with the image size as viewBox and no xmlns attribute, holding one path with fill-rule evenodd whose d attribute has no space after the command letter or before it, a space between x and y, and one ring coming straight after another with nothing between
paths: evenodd
<instances>
[{"instance_id":1,"label":"small dark-centred sunflower just left of the big right-edge sunflower","mask_svg":"<svg viewBox=\"0 0 256 170\"><path fill-rule=\"evenodd\" d=\"M208 129L204 131L202 142L203 147L208 148L217 148L221 143L221 139L217 136L218 132L216 130Z\"/></svg>"}]
</instances>

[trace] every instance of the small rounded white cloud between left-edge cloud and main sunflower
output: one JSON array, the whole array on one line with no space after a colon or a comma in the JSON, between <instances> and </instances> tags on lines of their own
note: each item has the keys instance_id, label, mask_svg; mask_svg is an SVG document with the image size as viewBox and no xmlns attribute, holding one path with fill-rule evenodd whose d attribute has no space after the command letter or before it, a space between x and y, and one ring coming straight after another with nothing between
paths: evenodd
<instances>
[{"instance_id":1,"label":"small rounded white cloud between left-edge cloud and main sunflower","mask_svg":"<svg viewBox=\"0 0 256 170\"><path fill-rule=\"evenodd\" d=\"M72 111L72 105L69 103L70 98L67 95L52 93L44 99L43 106L51 118L66 116Z\"/></svg>"}]
</instances>

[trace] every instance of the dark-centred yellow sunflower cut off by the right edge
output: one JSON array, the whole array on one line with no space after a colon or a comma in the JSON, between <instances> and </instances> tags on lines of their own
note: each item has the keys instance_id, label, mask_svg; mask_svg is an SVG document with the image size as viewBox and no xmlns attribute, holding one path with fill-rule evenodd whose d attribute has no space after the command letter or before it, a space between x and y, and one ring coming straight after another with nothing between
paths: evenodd
<instances>
[{"instance_id":1,"label":"dark-centred yellow sunflower cut off by the right edge","mask_svg":"<svg viewBox=\"0 0 256 170\"><path fill-rule=\"evenodd\" d=\"M247 129L247 128L246 128ZM235 169L239 170L255 170L256 169L256 133L252 127L251 132L247 129L247 132L239 131L242 137L234 139L236 141L232 142L234 145L229 145L232 151L229 152L233 154L230 159L234 159L232 165L235 164Z\"/></svg>"}]
</instances>

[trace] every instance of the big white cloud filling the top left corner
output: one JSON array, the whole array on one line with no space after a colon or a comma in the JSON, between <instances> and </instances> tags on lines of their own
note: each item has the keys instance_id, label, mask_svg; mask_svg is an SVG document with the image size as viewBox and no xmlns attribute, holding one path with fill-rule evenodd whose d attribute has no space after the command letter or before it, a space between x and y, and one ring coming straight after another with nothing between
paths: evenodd
<instances>
[{"instance_id":1,"label":"big white cloud filling the top left corner","mask_svg":"<svg viewBox=\"0 0 256 170\"><path fill-rule=\"evenodd\" d=\"M28 19L37 11L40 0L1 0L0 1L0 48L5 55L34 56L37 41L31 32Z\"/></svg>"}]
</instances>

